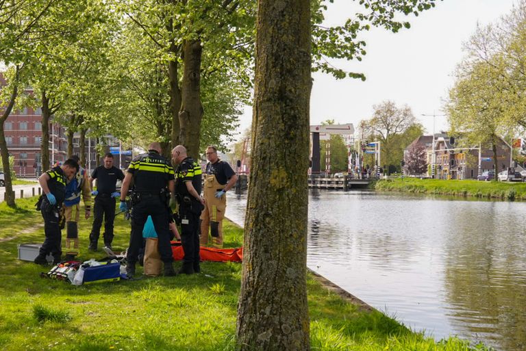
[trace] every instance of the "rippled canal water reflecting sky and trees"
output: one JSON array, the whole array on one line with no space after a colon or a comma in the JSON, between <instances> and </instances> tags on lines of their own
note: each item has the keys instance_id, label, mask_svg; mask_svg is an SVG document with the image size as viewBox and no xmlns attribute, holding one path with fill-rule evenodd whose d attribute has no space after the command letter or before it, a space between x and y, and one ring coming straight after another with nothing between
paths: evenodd
<instances>
[{"instance_id":1,"label":"rippled canal water reflecting sky and trees","mask_svg":"<svg viewBox=\"0 0 526 351\"><path fill-rule=\"evenodd\" d=\"M246 194L229 194L243 225ZM526 203L312 190L308 266L413 330L526 350Z\"/></svg>"}]
</instances>

